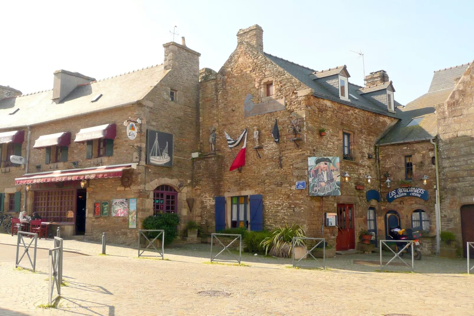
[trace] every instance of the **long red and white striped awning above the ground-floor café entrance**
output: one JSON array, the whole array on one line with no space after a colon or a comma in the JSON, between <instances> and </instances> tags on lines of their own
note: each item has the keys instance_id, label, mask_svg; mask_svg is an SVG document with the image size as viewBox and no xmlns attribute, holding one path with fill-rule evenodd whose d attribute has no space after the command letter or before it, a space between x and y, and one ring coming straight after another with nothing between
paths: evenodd
<instances>
[{"instance_id":1,"label":"long red and white striped awning above the ground-floor caf\u00e9 entrance","mask_svg":"<svg viewBox=\"0 0 474 316\"><path fill-rule=\"evenodd\" d=\"M60 182L60 181L70 181L70 180L82 180L82 179L121 177L122 170L125 168L136 169L137 164L130 163L130 164L124 164L124 165L56 170L53 172L27 173L26 175L23 175L23 177L21 178L16 178L15 184L22 185L22 184L38 183L38 182Z\"/></svg>"}]
</instances>

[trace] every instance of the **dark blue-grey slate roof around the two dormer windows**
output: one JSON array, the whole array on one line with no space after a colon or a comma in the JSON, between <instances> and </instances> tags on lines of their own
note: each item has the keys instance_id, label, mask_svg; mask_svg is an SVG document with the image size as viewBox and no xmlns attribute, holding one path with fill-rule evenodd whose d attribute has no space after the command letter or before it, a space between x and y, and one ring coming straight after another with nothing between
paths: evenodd
<instances>
[{"instance_id":1,"label":"dark blue-grey slate roof around the two dormer windows","mask_svg":"<svg viewBox=\"0 0 474 316\"><path fill-rule=\"evenodd\" d=\"M312 79L312 76L314 76L314 74L316 73L316 70L292 63L286 59L273 56L268 53L264 53L264 54L266 57L272 60L275 64L282 67L285 71L287 71L293 77L300 80L303 84L306 84L310 88L314 89L314 93L313 93L314 96L317 96L323 99L332 100L339 103L343 103L349 106L354 106L362 110L398 118L396 113L388 112L386 105L378 104L372 98L366 98L364 94L360 94L359 89L362 87L359 85L348 83L350 101L345 101L339 98L339 90L337 88L330 87L328 85L323 86L322 84L317 82L317 80ZM335 68L335 69L344 69L344 68ZM351 96L351 94L355 96L357 99ZM395 106L400 106L400 103L395 102Z\"/></svg>"}]
</instances>

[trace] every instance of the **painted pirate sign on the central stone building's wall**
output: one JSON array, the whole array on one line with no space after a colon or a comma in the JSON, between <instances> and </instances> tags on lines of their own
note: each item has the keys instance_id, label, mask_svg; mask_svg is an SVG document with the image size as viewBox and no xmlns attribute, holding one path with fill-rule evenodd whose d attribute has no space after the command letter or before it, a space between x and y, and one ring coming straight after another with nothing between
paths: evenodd
<instances>
[{"instance_id":1,"label":"painted pirate sign on the central stone building's wall","mask_svg":"<svg viewBox=\"0 0 474 316\"><path fill-rule=\"evenodd\" d=\"M339 157L308 157L310 196L341 195Z\"/></svg>"}]
</instances>

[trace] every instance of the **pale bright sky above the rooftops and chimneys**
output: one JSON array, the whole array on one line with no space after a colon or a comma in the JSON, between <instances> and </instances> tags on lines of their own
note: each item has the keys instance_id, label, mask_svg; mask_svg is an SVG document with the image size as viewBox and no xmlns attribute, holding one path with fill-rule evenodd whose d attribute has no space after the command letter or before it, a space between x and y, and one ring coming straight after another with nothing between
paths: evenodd
<instances>
[{"instance_id":1,"label":"pale bright sky above the rooftops and chimneys","mask_svg":"<svg viewBox=\"0 0 474 316\"><path fill-rule=\"evenodd\" d=\"M173 40L216 71L237 31L264 29L264 51L323 70L347 65L349 81L385 70L395 99L428 92L434 70L474 59L474 1L7 1L0 0L0 85L49 90L65 69L96 79L163 63Z\"/></svg>"}]
</instances>

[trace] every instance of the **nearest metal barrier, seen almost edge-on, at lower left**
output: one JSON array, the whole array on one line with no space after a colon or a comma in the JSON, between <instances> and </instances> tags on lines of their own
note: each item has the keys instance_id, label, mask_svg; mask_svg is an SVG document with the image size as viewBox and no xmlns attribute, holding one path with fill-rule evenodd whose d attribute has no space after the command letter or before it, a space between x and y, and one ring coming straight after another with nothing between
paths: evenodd
<instances>
[{"instance_id":1,"label":"nearest metal barrier, seen almost edge-on, at lower left","mask_svg":"<svg viewBox=\"0 0 474 316\"><path fill-rule=\"evenodd\" d=\"M63 283L63 239L55 237L55 248L49 250L49 279L48 279L48 305L61 296L61 283ZM56 288L56 296L54 290Z\"/></svg>"}]
</instances>

